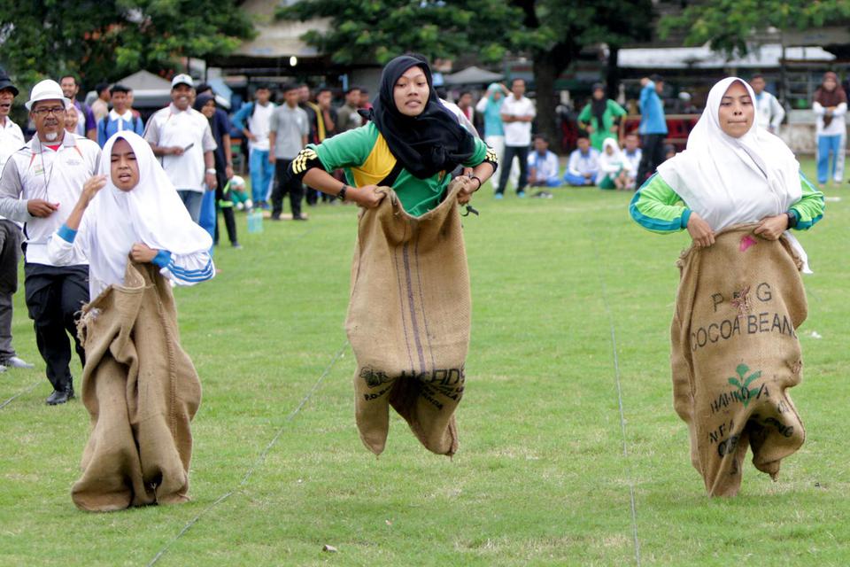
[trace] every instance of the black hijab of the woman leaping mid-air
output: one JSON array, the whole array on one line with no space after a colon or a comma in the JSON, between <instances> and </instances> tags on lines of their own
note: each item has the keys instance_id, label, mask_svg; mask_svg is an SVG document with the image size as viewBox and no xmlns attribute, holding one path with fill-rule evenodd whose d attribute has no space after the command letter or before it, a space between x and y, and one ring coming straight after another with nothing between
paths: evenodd
<instances>
[{"instance_id":1,"label":"black hijab of the woman leaping mid-air","mask_svg":"<svg viewBox=\"0 0 850 567\"><path fill-rule=\"evenodd\" d=\"M428 79L429 96L418 116L398 112L393 89L398 78L413 66ZM440 103L428 62L410 55L394 58L383 67L378 96L372 102L370 120L390 146L392 155L407 171L427 179L440 171L452 171L475 153L475 138Z\"/></svg>"}]
</instances>

